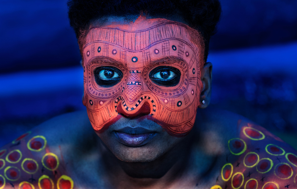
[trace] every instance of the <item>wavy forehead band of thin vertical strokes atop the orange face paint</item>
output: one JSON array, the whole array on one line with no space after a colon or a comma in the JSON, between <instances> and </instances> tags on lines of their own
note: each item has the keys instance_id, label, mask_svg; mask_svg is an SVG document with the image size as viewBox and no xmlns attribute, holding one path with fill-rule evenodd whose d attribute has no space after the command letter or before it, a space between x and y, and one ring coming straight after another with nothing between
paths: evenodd
<instances>
[{"instance_id":1,"label":"wavy forehead band of thin vertical strokes atop the orange face paint","mask_svg":"<svg viewBox=\"0 0 297 189\"><path fill-rule=\"evenodd\" d=\"M107 27L91 28L90 31L86 36L86 45L83 49L93 41L105 41L129 50L141 50L157 41L172 38L182 39L189 46L196 46L190 40L188 29L175 22L161 23L140 31L125 31Z\"/></svg>"}]
</instances>

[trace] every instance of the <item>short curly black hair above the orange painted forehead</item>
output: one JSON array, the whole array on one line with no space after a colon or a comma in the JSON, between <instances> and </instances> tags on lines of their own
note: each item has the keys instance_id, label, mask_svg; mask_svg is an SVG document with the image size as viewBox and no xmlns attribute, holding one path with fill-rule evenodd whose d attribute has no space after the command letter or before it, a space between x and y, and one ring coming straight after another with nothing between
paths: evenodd
<instances>
[{"instance_id":1,"label":"short curly black hair above the orange painted forehead","mask_svg":"<svg viewBox=\"0 0 297 189\"><path fill-rule=\"evenodd\" d=\"M69 0L67 5L69 22L78 39L92 21L108 16L120 16L129 21L140 15L168 20L180 16L202 35L205 61L210 37L221 15L219 0Z\"/></svg>"}]
</instances>

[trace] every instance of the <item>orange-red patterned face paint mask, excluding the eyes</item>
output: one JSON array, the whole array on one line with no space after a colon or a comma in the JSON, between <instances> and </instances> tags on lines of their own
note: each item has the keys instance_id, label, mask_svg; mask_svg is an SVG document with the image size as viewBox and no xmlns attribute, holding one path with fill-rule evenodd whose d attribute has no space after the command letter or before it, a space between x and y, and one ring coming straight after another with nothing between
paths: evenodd
<instances>
[{"instance_id":1,"label":"orange-red patterned face paint mask, excluding the eyes","mask_svg":"<svg viewBox=\"0 0 297 189\"><path fill-rule=\"evenodd\" d=\"M84 95L94 130L103 132L122 115L146 113L145 118L173 136L189 133L200 104L203 52L190 40L187 25L165 22L138 31L94 27L84 44ZM121 81L112 87L99 86L94 70L102 66L119 69ZM178 84L154 83L149 73L159 66L177 68Z\"/></svg>"}]
</instances>

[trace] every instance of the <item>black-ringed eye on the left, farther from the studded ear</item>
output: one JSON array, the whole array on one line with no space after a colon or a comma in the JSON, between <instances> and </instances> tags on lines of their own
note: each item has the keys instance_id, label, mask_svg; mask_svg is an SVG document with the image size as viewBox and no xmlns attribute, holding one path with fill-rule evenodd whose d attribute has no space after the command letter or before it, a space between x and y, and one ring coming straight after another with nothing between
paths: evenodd
<instances>
[{"instance_id":1,"label":"black-ringed eye on the left, farther from the studded ear","mask_svg":"<svg viewBox=\"0 0 297 189\"><path fill-rule=\"evenodd\" d=\"M123 73L115 67L104 66L94 70L96 83L101 87L112 87L123 78Z\"/></svg>"}]
</instances>

